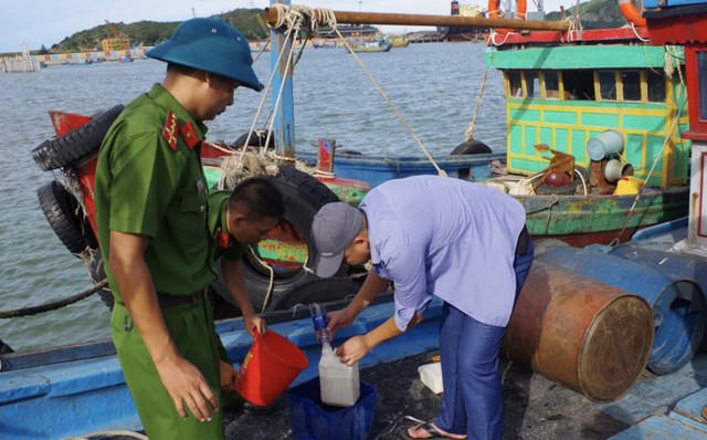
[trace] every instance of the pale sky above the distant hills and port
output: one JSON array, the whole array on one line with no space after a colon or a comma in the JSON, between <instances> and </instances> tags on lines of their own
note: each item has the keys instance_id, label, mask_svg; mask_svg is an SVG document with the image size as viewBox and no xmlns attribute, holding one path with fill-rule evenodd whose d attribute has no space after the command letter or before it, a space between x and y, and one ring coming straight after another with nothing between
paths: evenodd
<instances>
[{"instance_id":1,"label":"pale sky above the distant hills and port","mask_svg":"<svg viewBox=\"0 0 707 440\"><path fill-rule=\"evenodd\" d=\"M573 6L576 0L545 0L546 11L559 6ZM446 15L449 0L345 0L293 1L310 8L330 8L339 11L424 13ZM486 7L483 0L461 0L462 4ZM503 1L505 4L505 0ZM239 8L266 8L268 0L0 0L0 52L17 52L27 42L31 50L61 42L73 33L110 22L133 23L141 20L183 21L193 13L208 17ZM528 10L537 8L531 1ZM411 28L407 28L412 30ZM386 31L402 31L400 27L386 27Z\"/></svg>"}]
</instances>

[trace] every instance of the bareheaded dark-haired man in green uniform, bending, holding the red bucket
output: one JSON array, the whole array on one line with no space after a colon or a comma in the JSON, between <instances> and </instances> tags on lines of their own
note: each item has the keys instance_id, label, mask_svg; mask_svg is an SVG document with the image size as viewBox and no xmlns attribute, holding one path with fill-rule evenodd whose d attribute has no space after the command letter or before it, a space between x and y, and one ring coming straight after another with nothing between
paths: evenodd
<instances>
[{"instance_id":1,"label":"bareheaded dark-haired man in green uniform, bending, holding the red bucket","mask_svg":"<svg viewBox=\"0 0 707 440\"><path fill-rule=\"evenodd\" d=\"M243 279L241 260L245 245L256 243L285 213L281 190L267 177L252 177L233 191L209 195L209 231L213 240L213 260L221 261L223 283L243 315L243 327L252 335L265 334L265 321L253 311ZM236 373L225 349L221 348L221 387L235 392Z\"/></svg>"}]
</instances>

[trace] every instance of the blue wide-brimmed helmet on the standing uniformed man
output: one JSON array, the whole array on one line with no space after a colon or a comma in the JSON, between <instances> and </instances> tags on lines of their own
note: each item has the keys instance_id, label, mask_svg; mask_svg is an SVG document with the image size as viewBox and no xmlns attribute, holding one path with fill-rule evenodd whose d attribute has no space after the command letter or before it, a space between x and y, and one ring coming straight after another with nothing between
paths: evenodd
<instances>
[{"instance_id":1,"label":"blue wide-brimmed helmet on the standing uniformed man","mask_svg":"<svg viewBox=\"0 0 707 440\"><path fill-rule=\"evenodd\" d=\"M199 69L263 90L253 71L245 36L221 19L196 18L181 23L163 43L146 53L157 60Z\"/></svg>"}]
</instances>

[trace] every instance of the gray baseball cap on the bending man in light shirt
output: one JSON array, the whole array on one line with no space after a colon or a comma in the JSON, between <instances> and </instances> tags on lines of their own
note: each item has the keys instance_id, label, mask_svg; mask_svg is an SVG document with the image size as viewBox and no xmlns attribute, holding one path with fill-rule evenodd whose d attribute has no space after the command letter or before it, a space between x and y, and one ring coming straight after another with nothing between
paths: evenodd
<instances>
[{"instance_id":1,"label":"gray baseball cap on the bending man in light shirt","mask_svg":"<svg viewBox=\"0 0 707 440\"><path fill-rule=\"evenodd\" d=\"M327 203L312 222L312 239L317 249L314 273L329 277L341 266L344 251L361 231L361 211L341 201Z\"/></svg>"}]
</instances>

